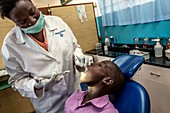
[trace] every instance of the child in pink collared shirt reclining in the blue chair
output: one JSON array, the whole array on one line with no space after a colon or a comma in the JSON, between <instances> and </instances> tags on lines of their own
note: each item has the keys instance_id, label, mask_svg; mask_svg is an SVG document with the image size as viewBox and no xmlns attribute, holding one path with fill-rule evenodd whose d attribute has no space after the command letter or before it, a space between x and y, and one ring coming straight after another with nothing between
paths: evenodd
<instances>
[{"instance_id":1,"label":"child in pink collared shirt reclining in the blue chair","mask_svg":"<svg viewBox=\"0 0 170 113\"><path fill-rule=\"evenodd\" d=\"M65 113L118 113L108 94L119 92L124 75L111 61L102 61L81 72L80 81L88 85L87 91L74 92L65 103Z\"/></svg>"}]
</instances>

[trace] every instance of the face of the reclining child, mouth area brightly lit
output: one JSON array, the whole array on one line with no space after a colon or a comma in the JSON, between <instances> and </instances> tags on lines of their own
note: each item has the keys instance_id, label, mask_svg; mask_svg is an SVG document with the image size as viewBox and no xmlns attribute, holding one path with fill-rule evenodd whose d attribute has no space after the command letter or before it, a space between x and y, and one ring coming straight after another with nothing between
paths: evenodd
<instances>
[{"instance_id":1,"label":"face of the reclining child, mouth area brightly lit","mask_svg":"<svg viewBox=\"0 0 170 113\"><path fill-rule=\"evenodd\" d=\"M110 72L110 63L112 62L102 61L88 66L88 70L84 73L81 73L80 81L86 84L95 84L102 82L103 78L107 77L108 73Z\"/></svg>"}]
</instances>

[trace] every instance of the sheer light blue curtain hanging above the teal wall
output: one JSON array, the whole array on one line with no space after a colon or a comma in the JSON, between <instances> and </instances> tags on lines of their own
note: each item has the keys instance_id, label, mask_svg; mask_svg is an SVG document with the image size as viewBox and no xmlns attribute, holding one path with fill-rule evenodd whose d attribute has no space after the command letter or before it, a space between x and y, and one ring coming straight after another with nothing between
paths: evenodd
<instances>
[{"instance_id":1,"label":"sheer light blue curtain hanging above the teal wall","mask_svg":"<svg viewBox=\"0 0 170 113\"><path fill-rule=\"evenodd\" d=\"M98 0L103 26L170 19L170 0Z\"/></svg>"}]
</instances>

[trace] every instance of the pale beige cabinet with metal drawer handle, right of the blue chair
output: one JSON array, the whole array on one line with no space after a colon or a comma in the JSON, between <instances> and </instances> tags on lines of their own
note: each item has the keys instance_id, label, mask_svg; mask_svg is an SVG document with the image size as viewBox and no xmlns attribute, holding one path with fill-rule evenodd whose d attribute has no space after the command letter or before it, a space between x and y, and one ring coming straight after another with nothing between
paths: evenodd
<instances>
[{"instance_id":1,"label":"pale beige cabinet with metal drawer handle, right of the blue chair","mask_svg":"<svg viewBox=\"0 0 170 113\"><path fill-rule=\"evenodd\" d=\"M149 93L151 113L170 112L170 69L143 64L133 79Z\"/></svg>"}]
</instances>

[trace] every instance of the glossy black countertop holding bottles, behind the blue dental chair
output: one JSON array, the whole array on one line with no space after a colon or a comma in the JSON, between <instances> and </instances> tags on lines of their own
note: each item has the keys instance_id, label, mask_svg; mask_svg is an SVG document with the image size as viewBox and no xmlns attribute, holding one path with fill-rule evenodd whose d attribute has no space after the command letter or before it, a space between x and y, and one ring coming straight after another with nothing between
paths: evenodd
<instances>
[{"instance_id":1,"label":"glossy black countertop holding bottles, behind the blue dental chair","mask_svg":"<svg viewBox=\"0 0 170 113\"><path fill-rule=\"evenodd\" d=\"M106 57L113 57L113 58L116 58L116 57L121 56L121 55L129 54L128 52L114 52L112 50L109 50L108 54L105 54L103 51L97 52L95 49L90 50L90 51L86 51L85 53L86 54L92 54L92 55L100 55L100 56L106 56ZM155 58L153 56L150 56L150 59L149 60L145 60L144 64L150 64L150 65L154 65L154 66L170 68L170 61L168 61L164 57Z\"/></svg>"}]
</instances>

